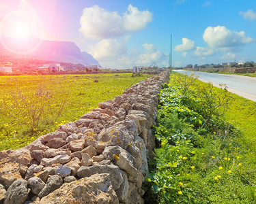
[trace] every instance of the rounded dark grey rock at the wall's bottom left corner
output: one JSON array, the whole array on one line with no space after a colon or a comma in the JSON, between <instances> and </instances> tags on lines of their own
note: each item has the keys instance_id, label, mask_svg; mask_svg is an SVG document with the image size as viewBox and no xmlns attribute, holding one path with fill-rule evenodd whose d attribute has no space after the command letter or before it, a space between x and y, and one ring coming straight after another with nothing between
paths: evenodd
<instances>
[{"instance_id":1,"label":"rounded dark grey rock at the wall's bottom left corner","mask_svg":"<svg viewBox=\"0 0 256 204\"><path fill-rule=\"evenodd\" d=\"M23 179L16 180L8 188L5 198L5 204L23 204L29 195L27 181Z\"/></svg>"}]
</instances>

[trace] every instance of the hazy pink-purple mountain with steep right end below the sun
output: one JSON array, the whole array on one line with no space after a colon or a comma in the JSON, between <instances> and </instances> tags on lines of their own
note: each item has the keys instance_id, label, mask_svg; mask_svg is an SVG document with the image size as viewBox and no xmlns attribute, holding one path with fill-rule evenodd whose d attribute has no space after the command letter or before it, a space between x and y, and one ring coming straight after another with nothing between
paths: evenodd
<instances>
[{"instance_id":1,"label":"hazy pink-purple mountain with steep right end below the sun","mask_svg":"<svg viewBox=\"0 0 256 204\"><path fill-rule=\"evenodd\" d=\"M0 38L0 55L36 58L56 63L82 64L88 67L100 66L91 54L81 52L80 48L71 41L47 41L35 37L29 37L29 39Z\"/></svg>"}]
</instances>

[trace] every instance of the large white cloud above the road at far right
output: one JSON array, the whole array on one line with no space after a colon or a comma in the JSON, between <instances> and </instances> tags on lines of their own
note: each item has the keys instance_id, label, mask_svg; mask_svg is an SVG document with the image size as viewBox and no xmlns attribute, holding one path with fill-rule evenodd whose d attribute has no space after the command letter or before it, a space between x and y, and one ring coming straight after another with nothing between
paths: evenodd
<instances>
[{"instance_id":1,"label":"large white cloud above the road at far right","mask_svg":"<svg viewBox=\"0 0 256 204\"><path fill-rule=\"evenodd\" d=\"M241 46L254 41L251 37L246 37L244 31L230 31L221 26L205 29L203 39L212 48Z\"/></svg>"}]
</instances>

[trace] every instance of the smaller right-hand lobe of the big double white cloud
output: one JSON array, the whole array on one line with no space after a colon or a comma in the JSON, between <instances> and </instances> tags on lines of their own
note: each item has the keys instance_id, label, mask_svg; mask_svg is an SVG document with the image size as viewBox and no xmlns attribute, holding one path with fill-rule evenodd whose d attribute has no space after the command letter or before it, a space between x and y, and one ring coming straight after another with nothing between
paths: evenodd
<instances>
[{"instance_id":1,"label":"smaller right-hand lobe of the big double white cloud","mask_svg":"<svg viewBox=\"0 0 256 204\"><path fill-rule=\"evenodd\" d=\"M127 31L139 31L143 29L148 22L152 21L153 14L149 11L139 11L137 7L128 6L128 12L124 14L124 28Z\"/></svg>"}]
</instances>

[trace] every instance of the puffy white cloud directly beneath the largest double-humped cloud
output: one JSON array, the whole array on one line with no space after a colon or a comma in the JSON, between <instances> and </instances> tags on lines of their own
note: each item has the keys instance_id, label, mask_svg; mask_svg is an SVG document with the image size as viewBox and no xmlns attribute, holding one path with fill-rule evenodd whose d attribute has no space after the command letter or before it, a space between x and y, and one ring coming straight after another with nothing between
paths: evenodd
<instances>
[{"instance_id":1,"label":"puffy white cloud directly beneath the largest double-humped cloud","mask_svg":"<svg viewBox=\"0 0 256 204\"><path fill-rule=\"evenodd\" d=\"M102 39L98 44L90 46L90 54L98 61L114 61L120 55L126 54L128 37L122 41L117 39Z\"/></svg>"}]
</instances>

